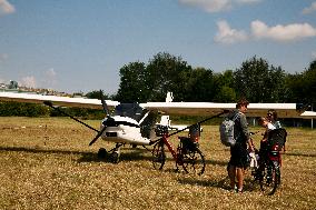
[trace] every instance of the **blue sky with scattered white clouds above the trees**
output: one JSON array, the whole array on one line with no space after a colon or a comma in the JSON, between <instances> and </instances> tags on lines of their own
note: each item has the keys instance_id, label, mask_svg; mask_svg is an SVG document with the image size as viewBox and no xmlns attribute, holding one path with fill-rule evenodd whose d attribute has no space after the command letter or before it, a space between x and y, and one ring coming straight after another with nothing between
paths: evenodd
<instances>
[{"instance_id":1,"label":"blue sky with scattered white clouds above the trees","mask_svg":"<svg viewBox=\"0 0 316 210\"><path fill-rule=\"evenodd\" d=\"M286 72L316 59L316 0L0 0L0 82L115 93L158 52L215 72L257 56Z\"/></svg>"}]
</instances>

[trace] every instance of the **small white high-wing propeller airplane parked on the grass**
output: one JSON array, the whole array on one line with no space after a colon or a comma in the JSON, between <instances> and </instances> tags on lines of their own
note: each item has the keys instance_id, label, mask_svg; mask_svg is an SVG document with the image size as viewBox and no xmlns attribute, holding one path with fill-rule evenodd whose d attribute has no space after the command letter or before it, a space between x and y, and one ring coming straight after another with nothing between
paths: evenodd
<instances>
[{"instance_id":1,"label":"small white high-wing propeller airplane parked on the grass","mask_svg":"<svg viewBox=\"0 0 316 210\"><path fill-rule=\"evenodd\" d=\"M101 94L102 96L102 94ZM233 110L236 103L213 103L213 102L147 102L147 103L120 103L111 100L98 100L86 98L69 98L57 96L41 96L30 93L0 92L2 101L33 102L43 103L58 109L61 107L81 107L92 109L103 109L106 118L101 121L100 130L91 128L85 122L69 116L83 126L97 132L89 146L93 144L99 138L105 141L116 142L116 147L109 152L101 148L98 152L100 157L110 154L113 162L119 161L119 149L124 144L149 146L159 136L161 130L156 129L155 122L158 111L167 114L187 114L187 116L216 116L221 114L224 110ZM109 109L113 108L113 113ZM303 107L296 103L250 103L247 116L265 116L268 109L275 109L279 118L305 118L313 119L315 112L304 112ZM304 112L304 114L302 114ZM160 133L161 134L161 133Z\"/></svg>"}]
</instances>

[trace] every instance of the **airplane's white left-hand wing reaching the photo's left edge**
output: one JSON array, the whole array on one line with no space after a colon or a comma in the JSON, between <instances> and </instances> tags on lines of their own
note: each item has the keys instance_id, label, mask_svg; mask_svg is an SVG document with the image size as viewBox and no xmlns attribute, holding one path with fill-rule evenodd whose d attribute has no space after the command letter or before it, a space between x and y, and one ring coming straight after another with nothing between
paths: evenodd
<instances>
[{"instance_id":1,"label":"airplane's white left-hand wing reaching the photo's left edge","mask_svg":"<svg viewBox=\"0 0 316 210\"><path fill-rule=\"evenodd\" d=\"M0 92L0 100L31 103L43 103L45 101L51 101L55 106L61 107L103 109L101 100L98 99L43 96L36 93ZM106 102L109 108L113 108L119 104L118 101L106 100Z\"/></svg>"}]
</instances>

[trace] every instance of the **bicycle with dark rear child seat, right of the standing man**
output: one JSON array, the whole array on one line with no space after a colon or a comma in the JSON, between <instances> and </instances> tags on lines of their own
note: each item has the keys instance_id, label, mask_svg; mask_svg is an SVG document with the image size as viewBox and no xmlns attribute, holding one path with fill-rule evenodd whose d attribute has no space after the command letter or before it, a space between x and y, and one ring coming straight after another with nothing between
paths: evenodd
<instances>
[{"instance_id":1,"label":"bicycle with dark rear child seat, right of the standing man","mask_svg":"<svg viewBox=\"0 0 316 210\"><path fill-rule=\"evenodd\" d=\"M275 129L268 133L266 143L260 144L260 150L255 150L258 154L258 167L251 172L255 181L258 180L260 190L271 196L280 184L280 150L286 141L285 129Z\"/></svg>"}]
</instances>

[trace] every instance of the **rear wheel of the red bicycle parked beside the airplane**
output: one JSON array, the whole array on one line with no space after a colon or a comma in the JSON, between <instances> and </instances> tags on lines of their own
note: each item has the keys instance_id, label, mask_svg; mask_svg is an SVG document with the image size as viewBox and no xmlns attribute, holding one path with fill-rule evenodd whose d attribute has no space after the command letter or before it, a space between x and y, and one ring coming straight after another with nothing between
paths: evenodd
<instances>
[{"instance_id":1,"label":"rear wheel of the red bicycle parked beside the airplane","mask_svg":"<svg viewBox=\"0 0 316 210\"><path fill-rule=\"evenodd\" d=\"M182 168L187 173L203 174L205 171L205 158L198 148L180 153Z\"/></svg>"}]
</instances>

